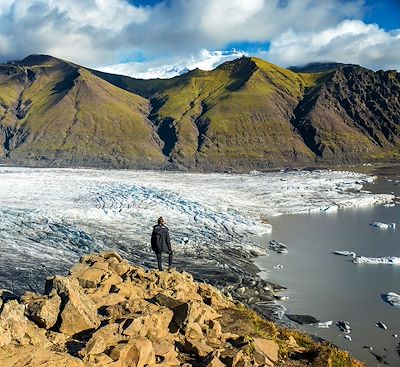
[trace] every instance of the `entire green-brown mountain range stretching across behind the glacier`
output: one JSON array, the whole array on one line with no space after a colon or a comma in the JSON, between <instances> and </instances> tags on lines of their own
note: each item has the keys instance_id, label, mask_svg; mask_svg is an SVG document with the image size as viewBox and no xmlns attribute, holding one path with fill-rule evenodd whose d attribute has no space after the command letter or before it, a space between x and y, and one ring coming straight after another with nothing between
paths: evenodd
<instances>
[{"instance_id":1,"label":"entire green-brown mountain range stretching across behind the glacier","mask_svg":"<svg viewBox=\"0 0 400 367\"><path fill-rule=\"evenodd\" d=\"M237 171L397 161L400 74L317 66L242 57L140 80L30 56L0 66L2 161Z\"/></svg>"}]
</instances>

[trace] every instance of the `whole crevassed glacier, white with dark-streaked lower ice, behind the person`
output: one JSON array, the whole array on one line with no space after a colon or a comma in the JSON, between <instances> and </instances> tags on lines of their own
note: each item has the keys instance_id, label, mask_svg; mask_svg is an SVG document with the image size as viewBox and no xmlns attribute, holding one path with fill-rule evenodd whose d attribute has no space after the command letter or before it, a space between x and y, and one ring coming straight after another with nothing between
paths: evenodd
<instances>
[{"instance_id":1,"label":"whole crevassed glacier, white with dark-streaked lower ice, behind the person","mask_svg":"<svg viewBox=\"0 0 400 367\"><path fill-rule=\"evenodd\" d=\"M203 174L0 167L0 288L35 290L41 287L37 279L66 271L93 251L113 249L154 266L148 242L160 215L183 268L195 274L207 268L214 279L242 279L254 271L249 258L265 253L251 238L271 232L269 217L332 215L393 202L392 195L362 190L373 180L333 170Z\"/></svg>"}]
</instances>

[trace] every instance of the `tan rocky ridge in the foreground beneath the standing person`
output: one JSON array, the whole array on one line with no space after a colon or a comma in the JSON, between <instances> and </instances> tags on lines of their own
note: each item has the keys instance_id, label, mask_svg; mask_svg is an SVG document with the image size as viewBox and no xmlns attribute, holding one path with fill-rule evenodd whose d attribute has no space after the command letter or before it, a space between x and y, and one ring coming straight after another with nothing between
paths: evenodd
<instances>
[{"instance_id":1,"label":"tan rocky ridge in the foreground beneath the standing person","mask_svg":"<svg viewBox=\"0 0 400 367\"><path fill-rule=\"evenodd\" d=\"M0 292L0 365L360 366L278 327L186 272L145 271L116 253L83 257L44 294Z\"/></svg>"}]
</instances>

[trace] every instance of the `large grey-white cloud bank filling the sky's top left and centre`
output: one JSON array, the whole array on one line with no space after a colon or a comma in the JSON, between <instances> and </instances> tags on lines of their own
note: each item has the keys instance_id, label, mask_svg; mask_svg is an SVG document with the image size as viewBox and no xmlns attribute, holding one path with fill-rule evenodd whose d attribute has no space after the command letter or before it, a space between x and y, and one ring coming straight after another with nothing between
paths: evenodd
<instances>
[{"instance_id":1,"label":"large grey-white cloud bank filling the sky's top left and centre","mask_svg":"<svg viewBox=\"0 0 400 367\"><path fill-rule=\"evenodd\" d=\"M288 27L321 30L359 15L362 1L171 0L140 7L127 0L1 0L0 35L10 47L0 61L31 53L91 67L135 54L180 60L231 42L269 40Z\"/></svg>"}]
</instances>

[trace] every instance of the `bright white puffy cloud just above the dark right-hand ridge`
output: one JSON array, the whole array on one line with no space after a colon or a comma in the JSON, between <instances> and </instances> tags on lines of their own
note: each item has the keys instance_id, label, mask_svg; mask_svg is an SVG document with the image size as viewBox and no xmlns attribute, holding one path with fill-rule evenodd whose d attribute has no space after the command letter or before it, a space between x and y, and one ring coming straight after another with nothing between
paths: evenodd
<instances>
[{"instance_id":1,"label":"bright white puffy cloud just above the dark right-hand ridge","mask_svg":"<svg viewBox=\"0 0 400 367\"><path fill-rule=\"evenodd\" d=\"M282 66L337 61L400 70L400 30L388 32L360 20L345 20L321 32L289 30L259 56Z\"/></svg>"}]
</instances>

